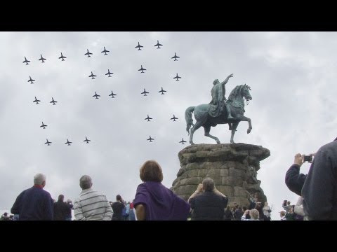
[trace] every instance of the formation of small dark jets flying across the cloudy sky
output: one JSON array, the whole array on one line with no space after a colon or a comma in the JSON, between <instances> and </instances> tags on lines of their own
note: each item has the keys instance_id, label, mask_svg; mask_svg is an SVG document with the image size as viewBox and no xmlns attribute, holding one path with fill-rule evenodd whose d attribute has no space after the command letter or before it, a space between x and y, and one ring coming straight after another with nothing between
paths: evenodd
<instances>
[{"instance_id":1,"label":"formation of small dark jets flying across the cloudy sky","mask_svg":"<svg viewBox=\"0 0 337 252\"><path fill-rule=\"evenodd\" d=\"M156 47L156 49L161 49L162 46L163 45L161 43L159 43L158 40L157 40L157 43L154 45L154 47ZM138 45L136 45L135 48L138 49L138 50L142 50L142 48L144 48L144 46L140 45L140 42L138 41ZM110 52L110 50L107 50L105 48L105 46L104 46L103 50L101 51L101 53L103 53L103 55L108 55L107 52ZM88 50L88 48L87 48L86 49L86 53L84 53L84 55L87 56L87 57L91 57L91 55L93 55L93 52L90 52ZM61 61L66 61L65 59L67 59L67 56L63 55L63 53L60 52L60 57L58 57L58 59L61 59ZM178 61L178 59L180 59L180 57L178 55L176 55L176 52L174 52L174 55L173 55L173 57L171 57L171 59L174 59L173 61ZM42 56L42 54L40 54L40 58L38 60L41 63L45 63L47 59L44 58ZM25 60L22 63L24 63L25 65L29 65L30 62L31 61L29 59L27 59L27 57L25 57ZM143 64L140 64L140 69L138 69L138 71L140 71L140 73L145 73L145 71L147 71L147 69L145 69L143 67ZM114 73L110 72L110 69L107 69L107 73L105 73L105 76L112 77L113 74ZM97 77L97 75L95 75L93 73L93 71L91 71L91 74L88 77L91 78L92 80L95 80L95 77ZM176 76L173 77L173 79L176 79L176 81L178 81L180 78L182 78L182 77L178 76L178 73L176 73ZM29 76L29 80L27 80L27 82L30 82L30 84L34 84L34 81L36 81L36 80L34 80L34 78L32 78L31 76ZM161 93L161 94L165 94L166 90L164 90L163 87L161 87L161 90L159 90L158 92ZM150 94L150 92L147 92L145 90L145 88L144 88L144 91L140 92L140 94L143 94L143 96L147 96L147 94ZM114 94L114 92L111 91L111 94L109 94L109 96L111 98L115 98L115 96L117 96L117 94ZM95 94L93 94L93 97L95 97L95 99L99 99L100 94L97 94L97 92L95 92ZM39 102L41 102L41 100L39 100L39 99L37 99L37 97L35 97L33 103L39 104ZM55 101L53 97L51 97L51 102L50 103L53 104L53 105L56 105L56 103L58 103L58 102ZM150 122L152 119L153 118L150 118L149 115L147 115L147 118L145 118L145 120L147 120L147 122ZM176 122L177 119L178 118L176 118L176 116L173 114L173 118L171 118L171 120L173 120L173 122ZM45 130L47 126L48 125L45 125L44 122L42 122L42 125L40 127L42 127ZM86 144L89 144L89 141L91 141L91 140L89 140L87 137L84 140L84 142L86 142ZM152 142L152 141L154 141L154 138L152 138L150 136L147 139L147 141ZM184 144L184 143L186 143L186 141L184 141L184 139L182 139L182 141L179 141L179 143ZM52 144L52 142L48 141L48 139L46 139L46 143L45 144L47 144L47 146L50 146ZM72 144L72 141L69 141L67 139L67 141L65 142L65 144L67 144L67 146L70 146Z\"/></svg>"}]
</instances>

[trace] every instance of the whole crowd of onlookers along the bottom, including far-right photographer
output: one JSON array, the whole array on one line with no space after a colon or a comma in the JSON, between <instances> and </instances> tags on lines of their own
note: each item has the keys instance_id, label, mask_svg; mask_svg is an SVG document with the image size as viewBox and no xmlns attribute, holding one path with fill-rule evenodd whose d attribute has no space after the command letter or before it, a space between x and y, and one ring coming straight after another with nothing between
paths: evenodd
<instances>
[{"instance_id":1,"label":"whole crowd of onlookers along the bottom, including far-right photographer","mask_svg":"<svg viewBox=\"0 0 337 252\"><path fill-rule=\"evenodd\" d=\"M337 200L337 139L319 148L308 175L300 174L304 155L296 154L294 163L286 172L286 186L299 195L298 202L284 200L280 211L281 220L336 220ZM206 178L197 190L185 201L161 184L163 173L158 162L146 161L140 167L140 179L135 198L126 203L117 195L116 202L109 202L103 193L93 190L90 176L79 179L81 193L74 201L64 202L59 195L55 202L44 190L46 176L34 176L34 186L24 190L16 198L11 214L1 216L3 220L20 221L70 221L72 209L78 221L270 221L272 209L267 202L258 202L249 197L249 206L234 204L230 209L228 197L216 189L213 179Z\"/></svg>"}]
</instances>

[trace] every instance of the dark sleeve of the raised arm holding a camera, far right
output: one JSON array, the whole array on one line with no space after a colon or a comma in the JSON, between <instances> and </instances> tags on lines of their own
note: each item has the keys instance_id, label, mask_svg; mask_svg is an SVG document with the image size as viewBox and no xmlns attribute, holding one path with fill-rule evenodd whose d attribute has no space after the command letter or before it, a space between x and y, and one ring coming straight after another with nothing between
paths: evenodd
<instances>
[{"instance_id":1,"label":"dark sleeve of the raised arm holding a camera, far right","mask_svg":"<svg viewBox=\"0 0 337 252\"><path fill-rule=\"evenodd\" d=\"M304 181L307 175L300 174L300 166L293 164L286 172L286 186L288 186L291 192L301 196L300 191L304 185Z\"/></svg>"}]
</instances>

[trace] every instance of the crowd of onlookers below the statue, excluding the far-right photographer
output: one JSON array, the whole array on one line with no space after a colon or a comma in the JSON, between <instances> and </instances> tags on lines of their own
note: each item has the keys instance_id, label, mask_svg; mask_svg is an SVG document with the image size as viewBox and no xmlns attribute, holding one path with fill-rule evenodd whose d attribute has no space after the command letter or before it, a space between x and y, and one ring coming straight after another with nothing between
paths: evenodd
<instances>
[{"instance_id":1,"label":"crowd of onlookers below the statue, excluding the far-right photographer","mask_svg":"<svg viewBox=\"0 0 337 252\"><path fill-rule=\"evenodd\" d=\"M81 176L81 193L72 204L72 200L65 201L64 195L59 195L57 202L53 200L44 190L46 176L37 174L34 186L18 195L11 213L20 221L71 221L72 210L77 221L241 221L256 216L258 220L270 220L267 202L263 207L255 197L250 198L249 209L234 204L230 210L228 197L216 189L211 178L204 179L190 198L183 200L161 184L162 169L154 160L140 167L140 179L143 183L138 185L132 202L126 202L121 195L109 202L103 193L93 190L91 176Z\"/></svg>"}]
</instances>

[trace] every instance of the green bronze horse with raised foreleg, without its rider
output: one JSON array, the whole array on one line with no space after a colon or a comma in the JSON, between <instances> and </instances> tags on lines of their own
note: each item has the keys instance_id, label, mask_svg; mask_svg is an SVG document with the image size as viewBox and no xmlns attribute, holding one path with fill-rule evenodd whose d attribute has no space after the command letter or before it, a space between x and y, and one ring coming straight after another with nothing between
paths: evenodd
<instances>
[{"instance_id":1,"label":"green bronze horse with raised foreleg, without its rider","mask_svg":"<svg viewBox=\"0 0 337 252\"><path fill-rule=\"evenodd\" d=\"M220 144L218 137L214 137L209 132L211 131L211 126L215 127L218 124L226 124L230 125L230 130L232 130L232 135L230 137L230 143L234 144L233 138L234 134L237 130L237 125L241 121L247 121L249 123L249 128L247 130L247 134L251 132L251 119L244 116L244 98L246 99L246 104L248 104L249 100L252 99L251 94L249 92L251 87L248 85L237 85L234 87L232 92L230 92L230 96L227 100L227 106L230 106L230 111L234 119L227 120L227 111L223 109L223 112L218 117L211 117L209 115L209 109L211 108L210 104L200 104L198 106L190 106L185 111L185 120L187 123L186 130L188 134L190 134L190 127L191 134L190 134L190 144L193 143L193 134L199 127L204 127L205 136L211 137L211 139L216 140L217 144ZM224 104L225 105L225 104ZM194 113L194 118L197 120L195 125L193 124L192 113Z\"/></svg>"}]
</instances>

